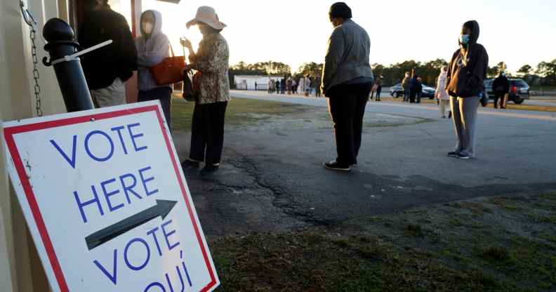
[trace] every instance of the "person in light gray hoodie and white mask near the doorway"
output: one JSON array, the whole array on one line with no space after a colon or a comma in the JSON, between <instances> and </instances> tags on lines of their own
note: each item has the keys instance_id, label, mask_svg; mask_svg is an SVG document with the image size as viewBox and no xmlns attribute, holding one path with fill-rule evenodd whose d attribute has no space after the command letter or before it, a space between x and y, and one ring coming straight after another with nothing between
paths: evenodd
<instances>
[{"instance_id":1,"label":"person in light gray hoodie and white mask near the doorway","mask_svg":"<svg viewBox=\"0 0 556 292\"><path fill-rule=\"evenodd\" d=\"M159 11L147 10L141 14L141 36L135 39L138 53L138 101L160 100L168 128L171 128L172 86L159 86L154 82L150 67L158 65L170 55L170 41L162 33L162 15Z\"/></svg>"}]
</instances>

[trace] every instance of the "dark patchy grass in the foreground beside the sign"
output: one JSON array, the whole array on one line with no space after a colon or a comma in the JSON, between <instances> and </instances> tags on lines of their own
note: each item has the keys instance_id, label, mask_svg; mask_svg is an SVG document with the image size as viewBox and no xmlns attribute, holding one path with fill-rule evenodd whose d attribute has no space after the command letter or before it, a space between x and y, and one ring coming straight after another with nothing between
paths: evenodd
<instances>
[{"instance_id":1,"label":"dark patchy grass in the foreground beside the sign","mask_svg":"<svg viewBox=\"0 0 556 292\"><path fill-rule=\"evenodd\" d=\"M556 291L554 216L538 202L556 206L556 194L458 202L432 212L444 217L430 223L421 223L426 212L375 216L364 220L370 234L339 228L208 237L218 291ZM546 213L544 220L531 212ZM510 231L530 226L541 231Z\"/></svg>"}]
</instances>

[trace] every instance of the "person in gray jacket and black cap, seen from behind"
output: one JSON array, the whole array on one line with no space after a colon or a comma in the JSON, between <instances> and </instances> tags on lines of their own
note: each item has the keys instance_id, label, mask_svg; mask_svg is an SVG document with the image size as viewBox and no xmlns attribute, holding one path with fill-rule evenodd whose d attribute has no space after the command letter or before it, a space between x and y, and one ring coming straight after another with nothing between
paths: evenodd
<instances>
[{"instance_id":1,"label":"person in gray jacket and black cap, seen from behind","mask_svg":"<svg viewBox=\"0 0 556 292\"><path fill-rule=\"evenodd\" d=\"M347 4L333 4L329 17L334 30L324 62L322 93L329 98L338 157L324 167L350 171L357 164L363 116L374 81L369 62L371 40L365 29L351 20L352 11Z\"/></svg>"}]
</instances>

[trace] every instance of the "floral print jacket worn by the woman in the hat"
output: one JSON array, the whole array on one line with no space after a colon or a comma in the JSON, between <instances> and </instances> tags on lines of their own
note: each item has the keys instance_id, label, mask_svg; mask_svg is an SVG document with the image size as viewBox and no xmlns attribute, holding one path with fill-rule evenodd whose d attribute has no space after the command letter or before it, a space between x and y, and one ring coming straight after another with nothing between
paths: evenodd
<instances>
[{"instance_id":1,"label":"floral print jacket worn by the woman in the hat","mask_svg":"<svg viewBox=\"0 0 556 292\"><path fill-rule=\"evenodd\" d=\"M230 100L229 58L227 41L219 33L204 36L197 54L190 55L192 68L201 72L197 104Z\"/></svg>"}]
</instances>

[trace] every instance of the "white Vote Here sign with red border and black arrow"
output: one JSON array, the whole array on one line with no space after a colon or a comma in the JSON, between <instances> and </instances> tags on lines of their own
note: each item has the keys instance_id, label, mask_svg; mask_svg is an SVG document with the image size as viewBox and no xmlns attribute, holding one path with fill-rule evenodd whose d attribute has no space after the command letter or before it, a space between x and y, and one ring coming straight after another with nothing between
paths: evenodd
<instances>
[{"instance_id":1,"label":"white Vote Here sign with red border and black arrow","mask_svg":"<svg viewBox=\"0 0 556 292\"><path fill-rule=\"evenodd\" d=\"M8 172L53 291L220 284L159 102L4 124Z\"/></svg>"}]
</instances>

